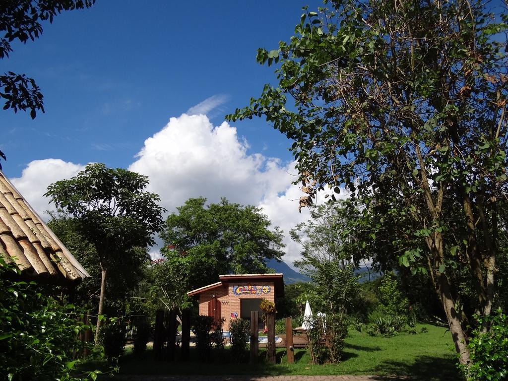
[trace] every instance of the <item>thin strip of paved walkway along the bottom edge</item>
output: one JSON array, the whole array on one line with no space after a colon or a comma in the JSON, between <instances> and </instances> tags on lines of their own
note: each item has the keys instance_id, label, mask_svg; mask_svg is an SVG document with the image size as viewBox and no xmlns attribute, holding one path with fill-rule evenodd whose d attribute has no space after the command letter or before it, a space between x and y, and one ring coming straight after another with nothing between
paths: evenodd
<instances>
[{"instance_id":1,"label":"thin strip of paved walkway along the bottom edge","mask_svg":"<svg viewBox=\"0 0 508 381\"><path fill-rule=\"evenodd\" d=\"M386 376L152 376L152 375L117 375L116 380L121 381L396 381L409 380L407 377Z\"/></svg>"}]
</instances>

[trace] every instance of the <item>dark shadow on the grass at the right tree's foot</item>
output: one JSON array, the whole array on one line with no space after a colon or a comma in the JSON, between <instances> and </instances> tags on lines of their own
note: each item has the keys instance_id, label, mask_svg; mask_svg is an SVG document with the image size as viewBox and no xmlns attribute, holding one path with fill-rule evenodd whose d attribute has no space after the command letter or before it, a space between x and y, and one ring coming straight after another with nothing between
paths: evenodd
<instances>
[{"instance_id":1,"label":"dark shadow on the grass at the right tree's foot","mask_svg":"<svg viewBox=\"0 0 508 381\"><path fill-rule=\"evenodd\" d=\"M377 365L374 370L379 373L394 374L391 378L389 376L376 376L375 379L378 380L397 379L397 376L407 376L411 380L418 381L449 381L462 379L453 359L442 359L432 356L419 356L412 364L401 361L384 361Z\"/></svg>"}]
</instances>

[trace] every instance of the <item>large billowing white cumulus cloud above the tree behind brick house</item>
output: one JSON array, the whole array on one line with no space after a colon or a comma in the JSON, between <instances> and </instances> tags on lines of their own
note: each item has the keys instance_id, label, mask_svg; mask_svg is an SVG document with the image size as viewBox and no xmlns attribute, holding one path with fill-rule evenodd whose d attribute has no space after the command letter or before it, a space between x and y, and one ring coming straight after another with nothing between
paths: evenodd
<instances>
[{"instance_id":1,"label":"large billowing white cumulus cloud above the tree behind brick house","mask_svg":"<svg viewBox=\"0 0 508 381\"><path fill-rule=\"evenodd\" d=\"M267 192L278 192L291 181L278 159L247 154L248 144L236 128L208 117L182 114L151 138L129 167L150 178L150 190L175 210L189 197L257 205Z\"/></svg>"}]
</instances>

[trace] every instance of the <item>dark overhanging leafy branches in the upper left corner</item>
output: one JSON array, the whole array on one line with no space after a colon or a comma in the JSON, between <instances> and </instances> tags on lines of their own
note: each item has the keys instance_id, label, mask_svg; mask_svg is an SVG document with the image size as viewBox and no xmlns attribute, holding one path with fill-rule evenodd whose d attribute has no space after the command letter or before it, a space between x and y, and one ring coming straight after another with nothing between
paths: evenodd
<instances>
[{"instance_id":1,"label":"dark overhanging leafy branches in the upper left corner","mask_svg":"<svg viewBox=\"0 0 508 381\"><path fill-rule=\"evenodd\" d=\"M34 41L42 34L42 23L53 22L62 11L89 8L95 0L2 0L0 2L0 59L8 58L13 51L11 42ZM44 112L41 89L33 78L9 71L0 75L0 98L4 98L4 110L9 108L30 111L32 119L37 110ZM6 160L4 152L0 157ZM0 168L2 166L0 165Z\"/></svg>"}]
</instances>

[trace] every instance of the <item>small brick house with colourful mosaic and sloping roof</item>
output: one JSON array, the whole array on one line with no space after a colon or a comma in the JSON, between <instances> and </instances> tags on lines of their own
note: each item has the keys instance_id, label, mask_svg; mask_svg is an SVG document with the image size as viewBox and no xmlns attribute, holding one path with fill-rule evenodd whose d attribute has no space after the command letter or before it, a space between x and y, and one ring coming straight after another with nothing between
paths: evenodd
<instances>
[{"instance_id":1,"label":"small brick house with colourful mosaic and sloping roof","mask_svg":"<svg viewBox=\"0 0 508 381\"><path fill-rule=\"evenodd\" d=\"M189 291L188 296L199 298L199 314L224 317L224 330L228 330L232 319L250 319L250 311L259 311L263 299L275 303L284 296L282 274L232 274L219 275L219 281Z\"/></svg>"}]
</instances>

